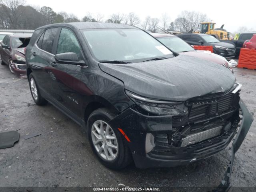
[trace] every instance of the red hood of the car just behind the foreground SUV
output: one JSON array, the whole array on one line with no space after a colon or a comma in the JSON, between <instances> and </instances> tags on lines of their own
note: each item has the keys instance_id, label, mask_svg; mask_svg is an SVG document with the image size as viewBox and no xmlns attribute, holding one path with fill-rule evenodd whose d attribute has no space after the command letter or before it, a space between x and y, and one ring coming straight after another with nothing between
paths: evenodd
<instances>
[{"instance_id":1,"label":"red hood of the car just behind the foreground SUV","mask_svg":"<svg viewBox=\"0 0 256 192\"><path fill-rule=\"evenodd\" d=\"M228 62L226 58L219 56L217 54L214 54L210 51L196 50L196 51L180 52L179 54L201 58L201 59L208 60L220 65L224 65Z\"/></svg>"}]
</instances>

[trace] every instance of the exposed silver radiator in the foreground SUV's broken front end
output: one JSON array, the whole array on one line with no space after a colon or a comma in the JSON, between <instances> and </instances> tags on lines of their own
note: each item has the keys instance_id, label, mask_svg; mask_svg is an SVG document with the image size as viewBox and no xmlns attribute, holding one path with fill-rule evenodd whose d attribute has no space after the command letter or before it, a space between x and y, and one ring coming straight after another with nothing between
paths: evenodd
<instances>
[{"instance_id":1,"label":"exposed silver radiator in the foreground SUV's broken front end","mask_svg":"<svg viewBox=\"0 0 256 192\"><path fill-rule=\"evenodd\" d=\"M190 145L190 144L195 144L200 141L215 137L220 135L222 126L214 127L202 132L194 133L191 135L186 136L186 138L182 139L181 147Z\"/></svg>"}]
</instances>

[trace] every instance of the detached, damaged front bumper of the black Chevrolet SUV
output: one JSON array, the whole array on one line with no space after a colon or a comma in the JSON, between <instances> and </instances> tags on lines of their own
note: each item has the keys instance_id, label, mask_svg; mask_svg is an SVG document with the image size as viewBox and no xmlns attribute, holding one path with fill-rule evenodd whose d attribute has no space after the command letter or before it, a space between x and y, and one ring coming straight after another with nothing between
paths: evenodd
<instances>
[{"instance_id":1,"label":"detached, damaged front bumper of the black Chevrolet SUV","mask_svg":"<svg viewBox=\"0 0 256 192\"><path fill-rule=\"evenodd\" d=\"M237 128L240 117L237 112L237 117L232 122L229 130L213 138L184 147L180 145L172 146L170 142L168 143L168 138L165 138L166 133L172 132L171 116L147 116L132 108L128 108L111 121L117 127L120 127L129 138L130 142L126 142L132 152L136 167L173 167L207 158L220 152L228 146L237 134L233 144L235 153L244 140L253 121L252 114L250 114L242 100L240 100L239 106L243 118L238 132ZM150 152L146 153L146 135L149 133L154 134L156 145Z\"/></svg>"}]
</instances>

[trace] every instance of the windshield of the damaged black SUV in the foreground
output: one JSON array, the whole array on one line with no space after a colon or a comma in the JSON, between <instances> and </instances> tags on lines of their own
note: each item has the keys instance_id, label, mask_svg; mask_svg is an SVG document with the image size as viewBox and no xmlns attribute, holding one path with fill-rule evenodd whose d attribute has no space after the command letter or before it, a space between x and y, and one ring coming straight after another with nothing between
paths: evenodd
<instances>
[{"instance_id":1,"label":"windshield of the damaged black SUV in the foreground","mask_svg":"<svg viewBox=\"0 0 256 192\"><path fill-rule=\"evenodd\" d=\"M141 62L173 56L168 48L139 29L93 29L84 30L83 34L98 60Z\"/></svg>"}]
</instances>

